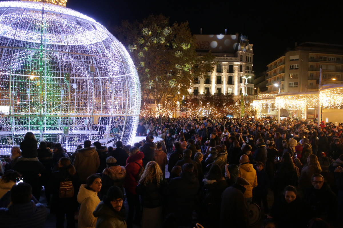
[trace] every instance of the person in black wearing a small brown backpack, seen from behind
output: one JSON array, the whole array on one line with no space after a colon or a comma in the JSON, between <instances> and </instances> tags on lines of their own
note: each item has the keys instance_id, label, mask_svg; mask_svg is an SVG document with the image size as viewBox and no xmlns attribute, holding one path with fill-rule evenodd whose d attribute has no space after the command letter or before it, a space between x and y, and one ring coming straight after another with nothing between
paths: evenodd
<instances>
[{"instance_id":1,"label":"person in black wearing a small brown backpack, seen from behind","mask_svg":"<svg viewBox=\"0 0 343 228\"><path fill-rule=\"evenodd\" d=\"M74 213L78 209L76 196L81 185L79 174L66 157L58 162L58 171L52 173L49 189L52 193L51 214L56 214L56 227L63 227L64 215L67 227L75 227Z\"/></svg>"}]
</instances>

